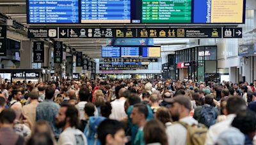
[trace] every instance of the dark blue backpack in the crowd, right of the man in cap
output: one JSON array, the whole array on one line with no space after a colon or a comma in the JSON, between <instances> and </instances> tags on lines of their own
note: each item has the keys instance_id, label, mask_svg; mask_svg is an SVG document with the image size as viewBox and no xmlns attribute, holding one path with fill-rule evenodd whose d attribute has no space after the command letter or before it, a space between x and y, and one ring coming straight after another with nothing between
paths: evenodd
<instances>
[{"instance_id":1,"label":"dark blue backpack in the crowd, right of the man in cap","mask_svg":"<svg viewBox=\"0 0 256 145\"><path fill-rule=\"evenodd\" d=\"M216 123L216 111L212 106L202 106L199 123L203 123L206 127L211 127Z\"/></svg>"}]
</instances>

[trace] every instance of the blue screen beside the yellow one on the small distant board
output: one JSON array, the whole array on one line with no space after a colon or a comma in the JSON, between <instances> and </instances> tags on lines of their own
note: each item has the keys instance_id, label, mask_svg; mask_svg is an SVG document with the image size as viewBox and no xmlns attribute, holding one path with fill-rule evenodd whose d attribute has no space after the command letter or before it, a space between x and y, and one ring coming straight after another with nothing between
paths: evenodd
<instances>
[{"instance_id":1,"label":"blue screen beside the yellow one on the small distant board","mask_svg":"<svg viewBox=\"0 0 256 145\"><path fill-rule=\"evenodd\" d=\"M121 57L140 57L140 48L121 47Z\"/></svg>"}]
</instances>

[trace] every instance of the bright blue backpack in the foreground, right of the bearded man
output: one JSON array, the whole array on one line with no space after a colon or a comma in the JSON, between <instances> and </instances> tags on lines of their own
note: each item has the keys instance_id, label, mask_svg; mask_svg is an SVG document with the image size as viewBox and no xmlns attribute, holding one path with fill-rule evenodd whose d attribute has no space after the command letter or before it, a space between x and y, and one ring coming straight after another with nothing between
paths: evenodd
<instances>
[{"instance_id":1,"label":"bright blue backpack in the foreground, right of the bearded man","mask_svg":"<svg viewBox=\"0 0 256 145\"><path fill-rule=\"evenodd\" d=\"M88 144L100 145L100 141L97 135L97 128L99 124L104 120L106 120L106 118L102 116L99 116L99 117L92 116L89 118L88 123L84 129L84 135L87 138Z\"/></svg>"}]
</instances>

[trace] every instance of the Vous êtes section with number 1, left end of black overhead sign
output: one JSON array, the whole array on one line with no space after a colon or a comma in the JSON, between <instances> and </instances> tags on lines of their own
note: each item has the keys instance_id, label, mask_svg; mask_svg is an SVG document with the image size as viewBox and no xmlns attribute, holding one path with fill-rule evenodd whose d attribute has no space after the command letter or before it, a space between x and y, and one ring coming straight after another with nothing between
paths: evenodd
<instances>
[{"instance_id":1,"label":"Vous \u00eates section with number 1, left end of black overhead sign","mask_svg":"<svg viewBox=\"0 0 256 145\"><path fill-rule=\"evenodd\" d=\"M29 28L28 38L58 38L58 27L56 28Z\"/></svg>"}]
</instances>

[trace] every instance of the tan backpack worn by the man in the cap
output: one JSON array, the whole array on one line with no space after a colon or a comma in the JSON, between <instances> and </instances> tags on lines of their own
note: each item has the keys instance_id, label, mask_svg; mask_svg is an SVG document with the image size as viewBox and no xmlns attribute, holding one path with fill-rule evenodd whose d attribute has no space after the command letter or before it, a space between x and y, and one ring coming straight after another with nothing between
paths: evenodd
<instances>
[{"instance_id":1,"label":"tan backpack worn by the man in the cap","mask_svg":"<svg viewBox=\"0 0 256 145\"><path fill-rule=\"evenodd\" d=\"M198 123L198 125L188 125L182 121L178 121L178 123L187 130L187 145L204 145L208 130L205 125L201 123Z\"/></svg>"}]
</instances>

